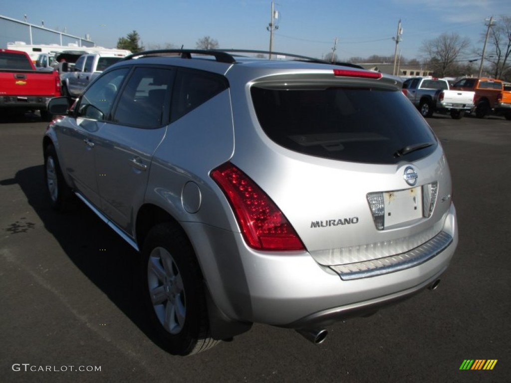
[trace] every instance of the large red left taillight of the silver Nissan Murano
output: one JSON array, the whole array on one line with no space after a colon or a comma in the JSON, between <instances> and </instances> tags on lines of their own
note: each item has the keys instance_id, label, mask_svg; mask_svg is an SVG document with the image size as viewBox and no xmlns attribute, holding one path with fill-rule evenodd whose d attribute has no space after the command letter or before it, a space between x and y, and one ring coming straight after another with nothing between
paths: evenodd
<instances>
[{"instance_id":1,"label":"large red left taillight of the silver Nissan Murano","mask_svg":"<svg viewBox=\"0 0 511 383\"><path fill-rule=\"evenodd\" d=\"M211 177L233 208L248 246L257 250L305 250L284 213L235 165L226 162L213 170Z\"/></svg>"}]
</instances>

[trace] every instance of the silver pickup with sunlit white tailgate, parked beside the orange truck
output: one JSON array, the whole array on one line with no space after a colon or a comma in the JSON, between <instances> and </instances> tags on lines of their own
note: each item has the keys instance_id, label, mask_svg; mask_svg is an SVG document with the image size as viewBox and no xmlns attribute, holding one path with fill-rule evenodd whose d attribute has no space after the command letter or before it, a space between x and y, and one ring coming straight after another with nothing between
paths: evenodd
<instances>
[{"instance_id":1,"label":"silver pickup with sunlit white tailgate, parked beside the orange truck","mask_svg":"<svg viewBox=\"0 0 511 383\"><path fill-rule=\"evenodd\" d=\"M474 109L473 91L450 90L449 82L432 77L413 77L403 83L403 93L424 117L433 112L459 119Z\"/></svg>"}]
</instances>

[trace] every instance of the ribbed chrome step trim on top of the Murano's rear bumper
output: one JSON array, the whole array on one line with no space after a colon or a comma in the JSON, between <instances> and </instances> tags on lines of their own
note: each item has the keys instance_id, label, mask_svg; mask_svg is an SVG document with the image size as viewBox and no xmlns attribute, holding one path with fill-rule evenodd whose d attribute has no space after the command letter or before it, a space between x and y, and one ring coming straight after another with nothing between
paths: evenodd
<instances>
[{"instance_id":1,"label":"ribbed chrome step trim on top of the Murano's rear bumper","mask_svg":"<svg viewBox=\"0 0 511 383\"><path fill-rule=\"evenodd\" d=\"M428 242L405 253L355 262L353 264L334 265L330 266L330 268L339 274L342 280L369 278L394 273L423 264L444 251L452 241L451 235L441 231Z\"/></svg>"}]
</instances>

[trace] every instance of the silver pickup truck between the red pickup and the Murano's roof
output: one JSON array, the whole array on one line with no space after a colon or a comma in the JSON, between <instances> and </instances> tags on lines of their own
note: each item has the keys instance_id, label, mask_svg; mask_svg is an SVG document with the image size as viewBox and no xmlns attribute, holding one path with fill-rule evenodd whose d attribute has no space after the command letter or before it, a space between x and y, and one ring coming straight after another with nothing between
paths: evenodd
<instances>
[{"instance_id":1,"label":"silver pickup truck between the red pickup and the Murano's roof","mask_svg":"<svg viewBox=\"0 0 511 383\"><path fill-rule=\"evenodd\" d=\"M78 98L87 85L110 65L124 56L117 54L86 54L80 56L70 72L60 76L62 95Z\"/></svg>"}]
</instances>

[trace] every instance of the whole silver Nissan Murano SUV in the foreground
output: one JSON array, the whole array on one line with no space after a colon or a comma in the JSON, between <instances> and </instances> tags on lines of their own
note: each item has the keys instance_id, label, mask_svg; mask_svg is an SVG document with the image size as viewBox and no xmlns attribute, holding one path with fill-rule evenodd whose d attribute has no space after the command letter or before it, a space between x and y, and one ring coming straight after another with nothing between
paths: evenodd
<instances>
[{"instance_id":1,"label":"whole silver Nissan Murano SUV in the foreground","mask_svg":"<svg viewBox=\"0 0 511 383\"><path fill-rule=\"evenodd\" d=\"M458 241L442 146L401 83L227 51L135 54L43 138L51 205L78 196L144 261L171 353L324 327L434 289Z\"/></svg>"}]
</instances>

